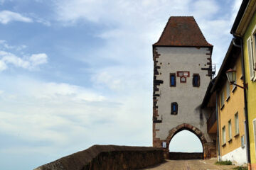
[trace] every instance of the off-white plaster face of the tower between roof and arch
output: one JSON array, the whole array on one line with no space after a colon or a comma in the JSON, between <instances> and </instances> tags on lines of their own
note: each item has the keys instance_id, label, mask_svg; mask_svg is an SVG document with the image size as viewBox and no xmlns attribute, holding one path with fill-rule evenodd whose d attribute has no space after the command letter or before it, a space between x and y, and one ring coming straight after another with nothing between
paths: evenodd
<instances>
[{"instance_id":1,"label":"off-white plaster face of the tower between roof and arch","mask_svg":"<svg viewBox=\"0 0 256 170\"><path fill-rule=\"evenodd\" d=\"M203 97L206 94L210 77L207 70L201 68L209 67L206 63L210 55L207 47L157 47L157 52L160 54L156 60L159 75L156 79L163 80L160 84L157 106L159 119L163 118L162 123L156 123L156 137L160 140L166 140L169 135L169 130L175 128L182 123L188 123L200 129L206 137L207 142L213 142L207 133L206 115L203 115L203 122L200 120L200 105ZM160 64L161 63L161 64ZM188 71L190 77L186 79L186 84L180 83L180 78L176 77L176 87L170 86L170 73L177 71ZM160 74L161 73L161 74ZM193 87L193 74L200 74L200 87ZM177 76L177 75L176 75ZM178 114L171 115L171 103L178 103Z\"/></svg>"}]
</instances>

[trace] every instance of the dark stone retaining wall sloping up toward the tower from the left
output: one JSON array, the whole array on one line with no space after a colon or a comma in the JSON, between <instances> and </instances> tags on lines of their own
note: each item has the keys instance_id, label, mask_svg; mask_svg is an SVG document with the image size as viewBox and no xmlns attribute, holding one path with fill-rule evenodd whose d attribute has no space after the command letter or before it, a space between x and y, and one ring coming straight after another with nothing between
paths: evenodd
<instances>
[{"instance_id":1,"label":"dark stone retaining wall sloping up toward the tower from the left","mask_svg":"<svg viewBox=\"0 0 256 170\"><path fill-rule=\"evenodd\" d=\"M163 161L163 150L154 147L94 145L34 170L142 169Z\"/></svg>"}]
</instances>

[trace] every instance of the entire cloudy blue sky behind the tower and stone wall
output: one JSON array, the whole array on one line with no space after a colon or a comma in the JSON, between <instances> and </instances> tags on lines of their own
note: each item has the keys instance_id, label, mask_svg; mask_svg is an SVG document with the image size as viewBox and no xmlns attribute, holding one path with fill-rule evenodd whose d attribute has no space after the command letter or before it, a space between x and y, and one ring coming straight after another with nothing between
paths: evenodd
<instances>
[{"instance_id":1,"label":"entire cloudy blue sky behind the tower and stone wall","mask_svg":"<svg viewBox=\"0 0 256 170\"><path fill-rule=\"evenodd\" d=\"M1 169L33 169L95 144L151 146L151 45L169 16L194 16L220 67L240 4L0 0ZM175 148L188 136L177 135Z\"/></svg>"}]
</instances>

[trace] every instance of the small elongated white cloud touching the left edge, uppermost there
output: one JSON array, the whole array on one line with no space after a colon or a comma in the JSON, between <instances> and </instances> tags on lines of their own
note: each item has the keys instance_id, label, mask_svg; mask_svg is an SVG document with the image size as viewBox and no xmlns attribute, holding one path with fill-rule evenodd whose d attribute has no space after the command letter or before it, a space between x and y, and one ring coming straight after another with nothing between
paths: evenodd
<instances>
[{"instance_id":1,"label":"small elongated white cloud touching the left edge, uppermost there","mask_svg":"<svg viewBox=\"0 0 256 170\"><path fill-rule=\"evenodd\" d=\"M12 11L0 11L0 23L7 24L11 21L21 21L25 23L32 23L33 20L26 16L22 16L20 13L15 13Z\"/></svg>"}]
</instances>

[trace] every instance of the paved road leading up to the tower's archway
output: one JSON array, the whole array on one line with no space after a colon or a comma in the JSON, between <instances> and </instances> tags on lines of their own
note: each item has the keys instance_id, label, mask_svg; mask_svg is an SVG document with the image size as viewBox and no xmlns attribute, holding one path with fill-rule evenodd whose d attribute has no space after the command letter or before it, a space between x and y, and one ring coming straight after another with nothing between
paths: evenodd
<instances>
[{"instance_id":1,"label":"paved road leading up to the tower's archway","mask_svg":"<svg viewBox=\"0 0 256 170\"><path fill-rule=\"evenodd\" d=\"M233 165L219 166L216 160L166 160L163 164L142 170L216 170L232 169Z\"/></svg>"}]
</instances>

